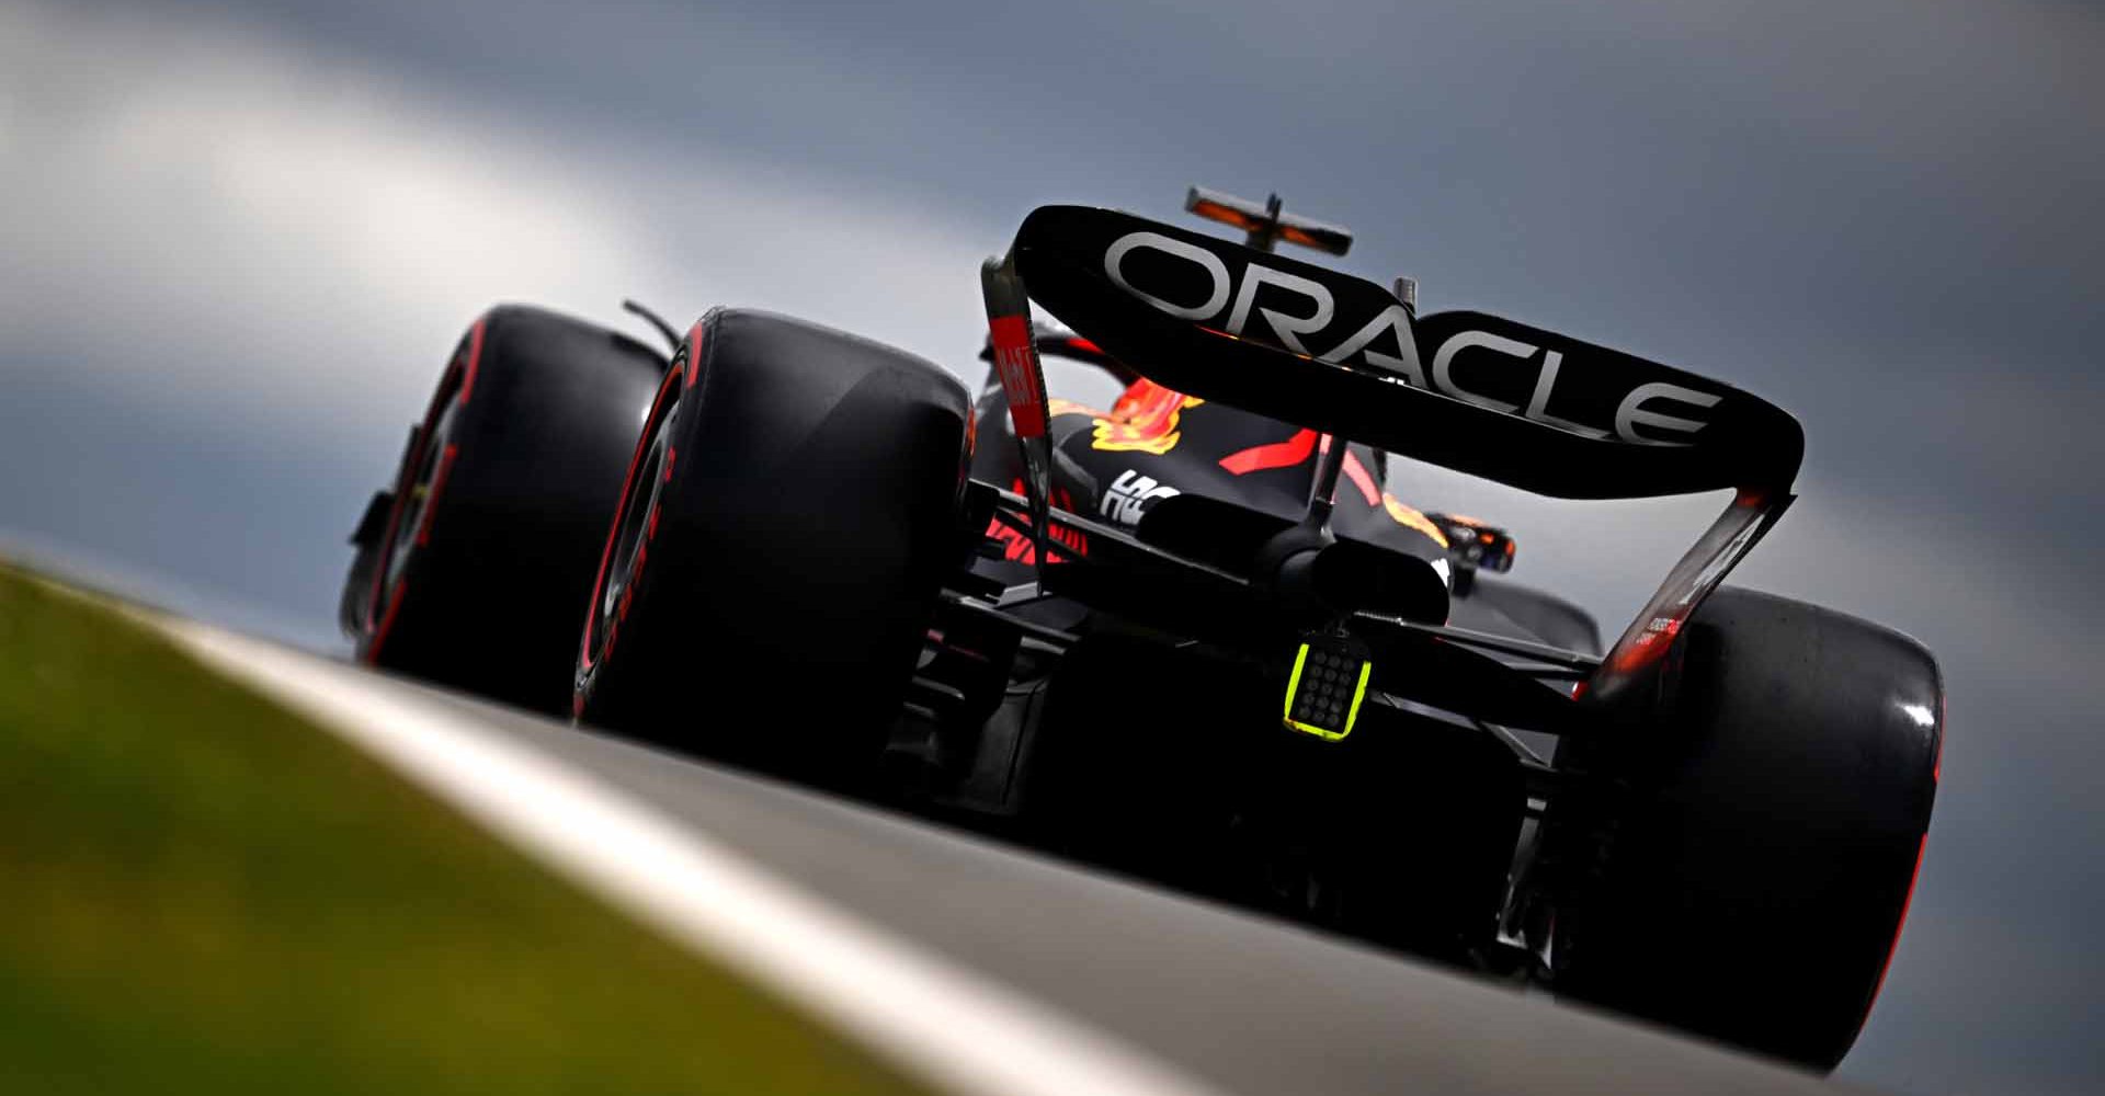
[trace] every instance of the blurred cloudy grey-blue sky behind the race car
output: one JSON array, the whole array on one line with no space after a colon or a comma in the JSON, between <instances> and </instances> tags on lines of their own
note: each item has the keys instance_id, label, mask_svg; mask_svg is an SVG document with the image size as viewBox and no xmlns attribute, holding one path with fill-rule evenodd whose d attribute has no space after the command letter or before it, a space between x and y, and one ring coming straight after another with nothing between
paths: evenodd
<instances>
[{"instance_id":1,"label":"blurred cloudy grey-blue sky behind the race car","mask_svg":"<svg viewBox=\"0 0 2105 1096\"><path fill-rule=\"evenodd\" d=\"M975 267L1031 206L1276 189L1425 309L1806 423L1739 581L1949 686L1842 1075L2092 1092L2101 105L2105 11L2067 0L0 0L0 545L341 650L343 539L493 301L775 307L977 383ZM1396 482L1610 635L1720 503Z\"/></svg>"}]
</instances>

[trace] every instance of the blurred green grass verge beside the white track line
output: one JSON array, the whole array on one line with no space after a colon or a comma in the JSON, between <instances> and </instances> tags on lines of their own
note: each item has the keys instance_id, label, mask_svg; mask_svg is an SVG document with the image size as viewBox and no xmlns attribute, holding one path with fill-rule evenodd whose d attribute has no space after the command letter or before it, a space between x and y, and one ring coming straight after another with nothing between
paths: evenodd
<instances>
[{"instance_id":1,"label":"blurred green grass verge beside the white track line","mask_svg":"<svg viewBox=\"0 0 2105 1096\"><path fill-rule=\"evenodd\" d=\"M914 1092L337 738L0 568L0 1092Z\"/></svg>"}]
</instances>

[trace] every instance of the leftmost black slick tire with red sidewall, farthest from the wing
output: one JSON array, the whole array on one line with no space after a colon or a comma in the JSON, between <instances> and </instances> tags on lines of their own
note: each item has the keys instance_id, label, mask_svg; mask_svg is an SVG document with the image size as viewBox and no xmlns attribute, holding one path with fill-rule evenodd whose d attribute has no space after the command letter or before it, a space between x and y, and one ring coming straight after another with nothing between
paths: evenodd
<instances>
[{"instance_id":1,"label":"leftmost black slick tire with red sidewall, farthest from the wing","mask_svg":"<svg viewBox=\"0 0 2105 1096\"><path fill-rule=\"evenodd\" d=\"M566 713L577 623L663 372L661 353L566 316L501 305L476 320L354 591L358 661Z\"/></svg>"}]
</instances>

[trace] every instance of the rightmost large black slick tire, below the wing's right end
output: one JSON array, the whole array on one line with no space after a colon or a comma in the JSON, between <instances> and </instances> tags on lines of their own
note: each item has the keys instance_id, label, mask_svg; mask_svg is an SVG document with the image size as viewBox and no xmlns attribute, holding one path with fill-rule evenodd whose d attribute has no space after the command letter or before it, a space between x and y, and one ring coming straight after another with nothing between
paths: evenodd
<instances>
[{"instance_id":1,"label":"rightmost large black slick tire, below the wing's right end","mask_svg":"<svg viewBox=\"0 0 2105 1096\"><path fill-rule=\"evenodd\" d=\"M1558 911L1556 987L1829 1071L1922 862L1937 663L1897 631L1726 587L1657 686L1617 766L1629 799L1606 858Z\"/></svg>"}]
</instances>

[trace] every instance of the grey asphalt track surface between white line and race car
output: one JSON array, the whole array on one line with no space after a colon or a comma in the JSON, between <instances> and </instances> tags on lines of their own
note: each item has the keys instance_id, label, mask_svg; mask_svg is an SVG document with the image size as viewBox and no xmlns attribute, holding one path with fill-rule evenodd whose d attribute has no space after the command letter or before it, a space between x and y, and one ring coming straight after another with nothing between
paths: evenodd
<instances>
[{"instance_id":1,"label":"grey asphalt track surface between white line and race car","mask_svg":"<svg viewBox=\"0 0 2105 1096\"><path fill-rule=\"evenodd\" d=\"M916 818L339 663L314 665L436 701L808 896L1219 1092L1844 1090Z\"/></svg>"}]
</instances>

